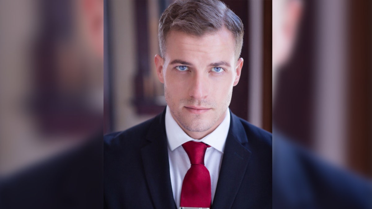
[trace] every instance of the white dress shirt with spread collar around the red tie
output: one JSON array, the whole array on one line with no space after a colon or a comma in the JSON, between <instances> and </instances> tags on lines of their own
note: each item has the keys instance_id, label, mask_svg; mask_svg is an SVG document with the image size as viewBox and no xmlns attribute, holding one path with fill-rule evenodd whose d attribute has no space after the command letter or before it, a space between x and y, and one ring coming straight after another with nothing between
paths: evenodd
<instances>
[{"instance_id":1,"label":"white dress shirt with spread collar around the red tie","mask_svg":"<svg viewBox=\"0 0 372 209\"><path fill-rule=\"evenodd\" d=\"M172 184L173 197L177 208L180 207L183 178L191 167L189 157L182 144L188 141L204 142L211 147L207 148L204 157L205 167L211 175L212 202L216 192L219 169L221 168L222 155L224 154L225 142L230 128L230 111L227 109L225 119L210 134L202 139L193 139L188 136L178 125L166 107L165 128L168 141L168 157L170 169L170 181Z\"/></svg>"}]
</instances>

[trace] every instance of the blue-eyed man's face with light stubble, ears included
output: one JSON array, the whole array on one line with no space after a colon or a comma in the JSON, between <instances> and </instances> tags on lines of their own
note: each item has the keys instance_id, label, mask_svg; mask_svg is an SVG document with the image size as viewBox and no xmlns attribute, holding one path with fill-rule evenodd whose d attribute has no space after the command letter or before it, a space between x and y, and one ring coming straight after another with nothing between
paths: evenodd
<instances>
[{"instance_id":1,"label":"blue-eyed man's face with light stubble, ears included","mask_svg":"<svg viewBox=\"0 0 372 209\"><path fill-rule=\"evenodd\" d=\"M192 36L171 31L164 59L155 56L159 80L171 114L193 138L202 138L222 122L243 59L235 57L231 32Z\"/></svg>"}]
</instances>

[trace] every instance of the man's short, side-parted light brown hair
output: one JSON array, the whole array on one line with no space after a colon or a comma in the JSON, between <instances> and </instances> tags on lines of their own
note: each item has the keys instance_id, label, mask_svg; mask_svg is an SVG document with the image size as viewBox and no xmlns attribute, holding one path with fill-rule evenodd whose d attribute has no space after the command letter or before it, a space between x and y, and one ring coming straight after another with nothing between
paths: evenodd
<instances>
[{"instance_id":1,"label":"man's short, side-parted light brown hair","mask_svg":"<svg viewBox=\"0 0 372 209\"><path fill-rule=\"evenodd\" d=\"M177 0L164 10L159 20L159 45L162 57L171 30L202 36L227 28L235 39L235 55L240 56L244 28L241 19L219 0Z\"/></svg>"}]
</instances>

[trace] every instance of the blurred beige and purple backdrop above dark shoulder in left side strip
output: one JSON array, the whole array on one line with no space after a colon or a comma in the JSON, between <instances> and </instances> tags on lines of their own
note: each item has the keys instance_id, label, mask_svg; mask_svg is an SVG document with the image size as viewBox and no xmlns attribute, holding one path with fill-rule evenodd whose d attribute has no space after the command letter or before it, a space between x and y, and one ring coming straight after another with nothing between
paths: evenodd
<instances>
[{"instance_id":1,"label":"blurred beige and purple backdrop above dark shoulder in left side strip","mask_svg":"<svg viewBox=\"0 0 372 209\"><path fill-rule=\"evenodd\" d=\"M103 0L0 2L0 177L103 130Z\"/></svg>"}]
</instances>

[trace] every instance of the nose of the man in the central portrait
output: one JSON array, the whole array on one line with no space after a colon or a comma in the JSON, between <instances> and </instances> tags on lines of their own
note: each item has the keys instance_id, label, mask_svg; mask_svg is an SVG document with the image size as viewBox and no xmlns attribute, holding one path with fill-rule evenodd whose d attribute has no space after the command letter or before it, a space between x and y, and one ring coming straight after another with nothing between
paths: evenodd
<instances>
[{"instance_id":1,"label":"nose of the man in the central portrait","mask_svg":"<svg viewBox=\"0 0 372 209\"><path fill-rule=\"evenodd\" d=\"M189 94L196 100L205 99L209 93L209 83L207 75L203 75L202 73L195 73L191 77L189 87Z\"/></svg>"}]
</instances>

